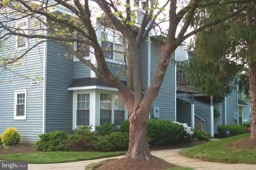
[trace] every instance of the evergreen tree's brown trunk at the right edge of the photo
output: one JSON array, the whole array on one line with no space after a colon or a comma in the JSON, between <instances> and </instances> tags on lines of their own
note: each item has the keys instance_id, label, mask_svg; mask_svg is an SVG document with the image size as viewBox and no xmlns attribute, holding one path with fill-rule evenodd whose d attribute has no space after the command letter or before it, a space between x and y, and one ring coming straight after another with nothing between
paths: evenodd
<instances>
[{"instance_id":1,"label":"evergreen tree's brown trunk at the right edge of the photo","mask_svg":"<svg viewBox=\"0 0 256 170\"><path fill-rule=\"evenodd\" d=\"M250 103L251 103L251 138L256 141L256 61L248 59Z\"/></svg>"}]
</instances>

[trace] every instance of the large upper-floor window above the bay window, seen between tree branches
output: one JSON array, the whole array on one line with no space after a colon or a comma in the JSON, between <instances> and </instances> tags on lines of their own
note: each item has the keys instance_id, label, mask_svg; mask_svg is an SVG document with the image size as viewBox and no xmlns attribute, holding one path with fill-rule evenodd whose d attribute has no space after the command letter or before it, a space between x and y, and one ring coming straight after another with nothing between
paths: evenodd
<instances>
[{"instance_id":1,"label":"large upper-floor window above the bay window, seen between tree branches","mask_svg":"<svg viewBox=\"0 0 256 170\"><path fill-rule=\"evenodd\" d=\"M122 42L122 34L116 30L102 27L101 28L101 47L107 50L115 50L115 51L124 51L124 47ZM117 60L124 61L124 54L117 53L113 51L104 52L104 57Z\"/></svg>"}]
</instances>

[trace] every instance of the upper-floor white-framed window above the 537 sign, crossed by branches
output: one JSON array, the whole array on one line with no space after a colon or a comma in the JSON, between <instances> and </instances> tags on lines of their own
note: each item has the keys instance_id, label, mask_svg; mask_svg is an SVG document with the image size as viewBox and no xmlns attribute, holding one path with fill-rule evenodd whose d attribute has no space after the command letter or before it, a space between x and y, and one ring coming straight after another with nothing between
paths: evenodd
<instances>
[{"instance_id":1,"label":"upper-floor white-framed window above the 537 sign, crossed by branches","mask_svg":"<svg viewBox=\"0 0 256 170\"><path fill-rule=\"evenodd\" d=\"M16 23L17 33L28 34L28 20L22 20ZM22 36L16 36L16 49L27 49L28 38Z\"/></svg>"}]
</instances>

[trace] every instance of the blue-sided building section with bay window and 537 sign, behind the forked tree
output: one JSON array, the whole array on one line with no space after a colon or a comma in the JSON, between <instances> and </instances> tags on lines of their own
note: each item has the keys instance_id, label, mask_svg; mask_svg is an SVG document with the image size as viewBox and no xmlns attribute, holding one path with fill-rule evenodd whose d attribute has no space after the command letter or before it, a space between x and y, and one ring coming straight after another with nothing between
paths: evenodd
<instances>
[{"instance_id":1,"label":"blue-sided building section with bay window and 537 sign, behind the forked tree","mask_svg":"<svg viewBox=\"0 0 256 170\"><path fill-rule=\"evenodd\" d=\"M62 10L56 9L61 15ZM139 10L137 14L142 14ZM139 24L140 16L137 17ZM10 23L33 28L33 21ZM97 38L102 48L121 49L115 30L103 26L95 19ZM47 32L42 32L42 34ZM104 35L104 41L102 36ZM106 36L107 35L107 36ZM22 39L23 41L17 41ZM25 42L25 43L24 43ZM35 45L36 40L11 36L2 56L21 55ZM163 41L155 34L148 34L140 47L143 90L146 92L155 74L155 67ZM93 49L79 48L77 52L96 63ZM91 52L92 51L92 52ZM69 57L68 57L68 56ZM95 73L55 42L43 42L30 50L11 70L0 74L0 134L7 127L15 127L21 142L35 143L42 133L54 130L72 132L79 126L99 126L104 122L120 125L128 119L127 109L118 90L98 79ZM126 83L124 55L104 52L112 73ZM172 55L175 59L175 53ZM3 69L3 68L0 68ZM152 103L150 118L176 121L175 64L169 64L159 94Z\"/></svg>"}]
</instances>

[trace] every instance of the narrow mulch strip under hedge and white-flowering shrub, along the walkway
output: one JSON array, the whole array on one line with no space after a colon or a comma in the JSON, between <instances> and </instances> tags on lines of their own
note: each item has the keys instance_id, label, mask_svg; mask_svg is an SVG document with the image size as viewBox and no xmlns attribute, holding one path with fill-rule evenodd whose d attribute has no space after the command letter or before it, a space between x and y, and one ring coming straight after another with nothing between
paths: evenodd
<instances>
[{"instance_id":1,"label":"narrow mulch strip under hedge and white-flowering shrub, along the walkway","mask_svg":"<svg viewBox=\"0 0 256 170\"><path fill-rule=\"evenodd\" d=\"M200 145L206 142L210 142L209 140L192 140L191 143L176 143L176 144L168 144L168 145L160 145L150 147L150 150L164 150L164 149L178 149L178 148L186 148L192 147L196 145Z\"/></svg>"}]
</instances>

